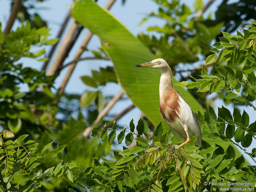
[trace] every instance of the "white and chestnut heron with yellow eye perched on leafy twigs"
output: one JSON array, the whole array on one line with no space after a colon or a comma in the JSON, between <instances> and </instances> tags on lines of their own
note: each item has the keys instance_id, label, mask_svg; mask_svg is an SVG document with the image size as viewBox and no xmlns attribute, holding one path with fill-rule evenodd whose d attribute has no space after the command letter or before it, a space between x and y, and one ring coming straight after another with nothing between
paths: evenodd
<instances>
[{"instance_id":1,"label":"white and chestnut heron with yellow eye perched on leafy twigs","mask_svg":"<svg viewBox=\"0 0 256 192\"><path fill-rule=\"evenodd\" d=\"M202 133L196 115L188 103L172 86L172 71L163 59L155 59L135 67L157 68L161 72L159 84L159 109L163 120L172 132L185 139L179 147L186 145L190 138L198 134L195 144L202 145Z\"/></svg>"}]
</instances>

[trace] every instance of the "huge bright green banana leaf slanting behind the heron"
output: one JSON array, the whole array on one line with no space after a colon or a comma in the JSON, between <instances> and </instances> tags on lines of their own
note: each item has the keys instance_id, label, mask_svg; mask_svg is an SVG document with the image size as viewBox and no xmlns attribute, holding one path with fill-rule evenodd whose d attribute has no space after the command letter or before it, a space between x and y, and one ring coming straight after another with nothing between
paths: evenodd
<instances>
[{"instance_id":1,"label":"huge bright green banana leaf slanting behind the heron","mask_svg":"<svg viewBox=\"0 0 256 192\"><path fill-rule=\"evenodd\" d=\"M155 55L108 10L101 8L92 0L76 1L72 16L104 40L105 43L102 46L113 61L118 82L133 103L153 124L156 125L162 121L158 107L160 72L153 68L134 67L156 59ZM182 87L175 86L176 83L177 81L173 79L174 88L180 92L191 108L195 112L203 111L196 99ZM165 130L168 130L168 126L163 121L162 123ZM177 138L176 136L176 141ZM204 140L212 145L217 142L225 150L228 147L227 142L221 139L212 140L205 137ZM236 156L239 155L236 149Z\"/></svg>"}]
</instances>

